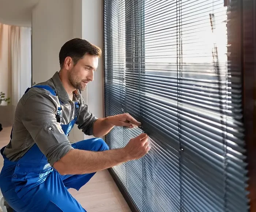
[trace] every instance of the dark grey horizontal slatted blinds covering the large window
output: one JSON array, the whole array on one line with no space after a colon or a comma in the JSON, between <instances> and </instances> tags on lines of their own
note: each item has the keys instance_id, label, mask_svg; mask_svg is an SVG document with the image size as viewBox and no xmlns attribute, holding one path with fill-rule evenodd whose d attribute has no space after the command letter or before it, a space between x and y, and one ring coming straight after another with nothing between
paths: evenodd
<instances>
[{"instance_id":1,"label":"dark grey horizontal slatted blinds covering the large window","mask_svg":"<svg viewBox=\"0 0 256 212\"><path fill-rule=\"evenodd\" d=\"M243 212L240 1L104 0L105 115L122 148L145 131L150 152L113 167L145 212Z\"/></svg>"}]
</instances>

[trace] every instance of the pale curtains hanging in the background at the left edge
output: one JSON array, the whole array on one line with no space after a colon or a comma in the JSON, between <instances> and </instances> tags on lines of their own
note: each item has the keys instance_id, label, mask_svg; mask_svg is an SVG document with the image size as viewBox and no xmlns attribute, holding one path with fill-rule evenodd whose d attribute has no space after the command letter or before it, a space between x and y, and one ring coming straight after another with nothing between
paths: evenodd
<instances>
[{"instance_id":1,"label":"pale curtains hanging in the background at the left edge","mask_svg":"<svg viewBox=\"0 0 256 212\"><path fill-rule=\"evenodd\" d=\"M0 91L16 106L30 86L31 28L0 23Z\"/></svg>"}]
</instances>

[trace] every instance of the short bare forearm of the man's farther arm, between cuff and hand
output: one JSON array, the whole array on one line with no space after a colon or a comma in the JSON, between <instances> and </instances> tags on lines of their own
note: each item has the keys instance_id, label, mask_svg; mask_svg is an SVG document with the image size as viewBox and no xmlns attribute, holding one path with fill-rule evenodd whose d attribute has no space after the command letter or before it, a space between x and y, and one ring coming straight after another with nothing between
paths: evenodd
<instances>
[{"instance_id":1,"label":"short bare forearm of the man's farther arm, between cuff and hand","mask_svg":"<svg viewBox=\"0 0 256 212\"><path fill-rule=\"evenodd\" d=\"M94 122L93 125L93 135L95 137L102 137L112 130L114 125L110 123L109 118L99 118Z\"/></svg>"}]
</instances>

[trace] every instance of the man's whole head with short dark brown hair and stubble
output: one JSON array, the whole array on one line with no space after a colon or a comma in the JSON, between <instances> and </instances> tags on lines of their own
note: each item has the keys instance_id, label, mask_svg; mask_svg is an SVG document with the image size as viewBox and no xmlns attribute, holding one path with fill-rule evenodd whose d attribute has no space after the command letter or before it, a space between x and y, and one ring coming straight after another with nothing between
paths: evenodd
<instances>
[{"instance_id":1,"label":"man's whole head with short dark brown hair and stubble","mask_svg":"<svg viewBox=\"0 0 256 212\"><path fill-rule=\"evenodd\" d=\"M74 38L66 42L60 49L59 59L68 83L75 89L85 90L87 83L93 81L100 56L101 49L87 40Z\"/></svg>"}]
</instances>

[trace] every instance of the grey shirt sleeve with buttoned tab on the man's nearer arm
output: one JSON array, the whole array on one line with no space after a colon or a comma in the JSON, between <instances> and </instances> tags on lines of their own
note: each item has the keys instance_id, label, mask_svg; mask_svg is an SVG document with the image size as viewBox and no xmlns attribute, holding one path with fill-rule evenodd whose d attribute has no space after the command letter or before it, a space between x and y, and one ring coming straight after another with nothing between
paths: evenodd
<instances>
[{"instance_id":1,"label":"grey shirt sleeve with buttoned tab on the man's nearer arm","mask_svg":"<svg viewBox=\"0 0 256 212\"><path fill-rule=\"evenodd\" d=\"M22 122L51 166L73 149L56 120L57 97L35 93L24 104Z\"/></svg>"}]
</instances>

